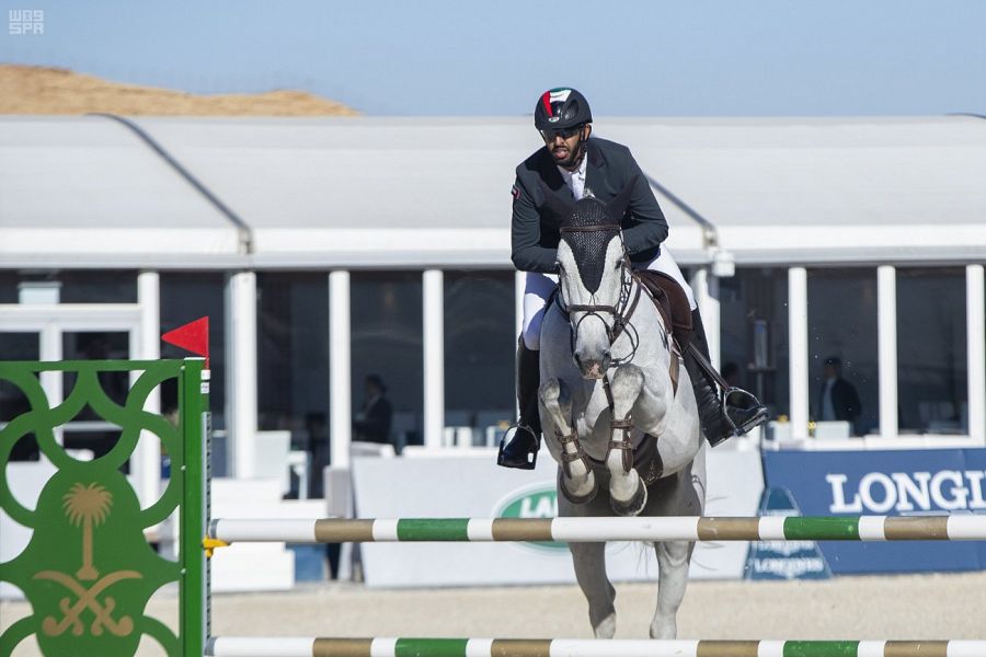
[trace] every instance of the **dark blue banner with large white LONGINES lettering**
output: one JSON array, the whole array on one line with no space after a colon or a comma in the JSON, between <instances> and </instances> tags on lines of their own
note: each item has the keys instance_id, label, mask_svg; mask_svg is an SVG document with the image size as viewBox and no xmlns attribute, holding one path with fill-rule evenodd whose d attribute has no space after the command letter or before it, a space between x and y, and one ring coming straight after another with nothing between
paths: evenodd
<instances>
[{"instance_id":1,"label":"dark blue banner with large white LONGINES lettering","mask_svg":"<svg viewBox=\"0 0 986 657\"><path fill-rule=\"evenodd\" d=\"M805 516L986 512L984 449L765 452L764 468ZM986 545L974 542L818 546L836 575L986 569Z\"/></svg>"}]
</instances>

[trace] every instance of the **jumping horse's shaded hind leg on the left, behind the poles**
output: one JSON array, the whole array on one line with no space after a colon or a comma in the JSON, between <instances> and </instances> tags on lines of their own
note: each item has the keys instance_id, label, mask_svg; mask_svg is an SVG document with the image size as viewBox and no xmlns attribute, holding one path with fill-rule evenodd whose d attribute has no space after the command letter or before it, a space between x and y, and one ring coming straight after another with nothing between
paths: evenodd
<instances>
[{"instance_id":1,"label":"jumping horse's shaded hind leg on the left, behind the poles","mask_svg":"<svg viewBox=\"0 0 986 657\"><path fill-rule=\"evenodd\" d=\"M606 516L603 498L587 505L575 505L559 498L560 516ZM569 543L575 579L589 608L589 623L596 638L612 638L616 634L616 589L606 576L606 543Z\"/></svg>"}]
</instances>

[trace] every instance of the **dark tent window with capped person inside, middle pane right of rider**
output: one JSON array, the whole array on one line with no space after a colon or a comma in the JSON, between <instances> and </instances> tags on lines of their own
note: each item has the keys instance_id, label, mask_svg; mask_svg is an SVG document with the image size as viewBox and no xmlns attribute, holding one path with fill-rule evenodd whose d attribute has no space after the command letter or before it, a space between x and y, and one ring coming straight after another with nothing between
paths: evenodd
<instances>
[{"instance_id":1,"label":"dark tent window with capped person inside, middle pane right of rider","mask_svg":"<svg viewBox=\"0 0 986 657\"><path fill-rule=\"evenodd\" d=\"M812 418L849 422L853 436L878 433L876 270L810 270L807 306Z\"/></svg>"}]
</instances>

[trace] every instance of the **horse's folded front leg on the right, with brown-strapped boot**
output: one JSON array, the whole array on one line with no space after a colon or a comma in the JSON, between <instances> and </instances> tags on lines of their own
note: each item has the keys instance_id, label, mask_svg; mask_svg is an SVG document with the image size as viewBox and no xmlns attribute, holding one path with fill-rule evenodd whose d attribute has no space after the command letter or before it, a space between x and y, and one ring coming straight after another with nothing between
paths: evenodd
<instances>
[{"instance_id":1,"label":"horse's folded front leg on the right, with brown-strapped boot","mask_svg":"<svg viewBox=\"0 0 986 657\"><path fill-rule=\"evenodd\" d=\"M627 441L630 411L643 390L643 371L634 365L618 367L610 378L612 392L612 428L606 469L609 470L609 497L620 516L637 516L647 504L647 487L633 468L633 451ZM622 440L617 433L622 431Z\"/></svg>"}]
</instances>

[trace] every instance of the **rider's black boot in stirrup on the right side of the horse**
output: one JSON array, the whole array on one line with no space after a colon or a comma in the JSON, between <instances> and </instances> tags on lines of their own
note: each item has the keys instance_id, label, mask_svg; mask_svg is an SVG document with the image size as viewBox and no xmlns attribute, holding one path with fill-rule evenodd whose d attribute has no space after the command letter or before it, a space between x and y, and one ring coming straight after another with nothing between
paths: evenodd
<instances>
[{"instance_id":1,"label":"rider's black boot in stirrup on the right side of the horse","mask_svg":"<svg viewBox=\"0 0 986 657\"><path fill-rule=\"evenodd\" d=\"M702 325L702 316L696 309L691 311L692 334L688 347L685 349L685 369L691 379L691 388L695 390L695 399L698 402L699 420L702 433L709 445L715 447L723 440L732 438L736 434L745 434L767 419L767 408L760 405L752 394L738 389L719 391L712 372L707 371L706 365L710 362L709 343L706 339L706 327ZM704 360L696 356L696 351ZM708 366L711 369L711 366ZM744 401L743 406L723 406L723 399L730 393L740 393L736 396ZM729 413L729 416L726 416Z\"/></svg>"}]
</instances>

